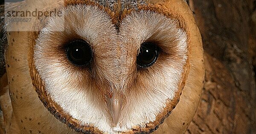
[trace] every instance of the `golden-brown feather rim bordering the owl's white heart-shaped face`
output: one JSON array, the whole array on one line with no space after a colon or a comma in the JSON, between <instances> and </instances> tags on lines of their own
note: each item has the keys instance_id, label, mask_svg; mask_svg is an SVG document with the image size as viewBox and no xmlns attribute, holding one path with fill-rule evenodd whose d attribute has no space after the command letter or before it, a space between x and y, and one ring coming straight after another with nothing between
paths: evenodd
<instances>
[{"instance_id":1,"label":"golden-brown feather rim bordering the owl's white heart-shaped face","mask_svg":"<svg viewBox=\"0 0 256 134\"><path fill-rule=\"evenodd\" d=\"M117 13L116 11L111 11L109 8L103 7L99 5L98 3L92 2L90 0L65 0L65 6L72 5L72 4L87 4L91 6L98 6L100 9L106 11L108 15L112 18L112 23L114 25L118 25L118 22L121 22L123 18L126 17L126 15L131 14L134 9L124 9L122 12L121 16L120 13ZM141 5L138 7L139 11L140 10L149 10L149 11L154 11L159 14L163 14L164 16L168 18L174 18L177 20L177 28L182 28L185 30L187 34L187 43L188 43L188 53L190 53L190 39L189 39L189 31L187 31L188 28L186 28L186 21L183 19L181 15L178 13L175 13L173 11L168 10L168 8L165 8L164 6L160 4L148 4L148 5ZM120 18L119 18L120 17ZM120 20L119 20L120 19ZM38 22L40 23L40 22ZM36 23L36 25L38 25ZM37 28L32 26L32 28ZM65 113L63 109L61 109L60 106L58 106L50 97L48 97L47 92L44 90L44 82L41 80L37 70L35 69L35 62L34 62L34 45L35 45L35 39L38 36L39 32L30 32L30 35L32 38L30 38L30 53L29 53L29 71L30 75L32 78L32 84L35 87L36 92L38 93L39 99L42 101L44 106L47 108L47 110L55 116L58 120L60 120L62 123L67 124L70 128L73 128L77 132L82 132L85 134L102 134L103 132L100 131L98 128L90 124L89 126L81 126L79 125L79 120L76 120L72 118L70 115ZM171 113L172 110L175 109L175 106L179 102L180 95L182 93L183 87L186 83L186 78L189 72L189 54L187 54L188 59L186 61L186 64L183 67L183 81L180 82L180 87L176 92L175 98L172 100L166 100L166 107L164 108L163 112L159 115L157 115L156 120L151 123L147 123L146 127L140 127L140 126L134 126L132 129L129 131L122 132L122 134L149 134L159 127L160 124L163 123L163 121L168 117Z\"/></svg>"}]
</instances>

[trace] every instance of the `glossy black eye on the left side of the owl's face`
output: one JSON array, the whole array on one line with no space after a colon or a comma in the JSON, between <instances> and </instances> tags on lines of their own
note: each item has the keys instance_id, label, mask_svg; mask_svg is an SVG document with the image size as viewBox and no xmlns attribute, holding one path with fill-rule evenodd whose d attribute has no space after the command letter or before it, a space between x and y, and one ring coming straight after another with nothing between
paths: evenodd
<instances>
[{"instance_id":1,"label":"glossy black eye on the left side of the owl's face","mask_svg":"<svg viewBox=\"0 0 256 134\"><path fill-rule=\"evenodd\" d=\"M66 46L67 59L77 66L90 64L93 59L93 51L84 40L76 40Z\"/></svg>"}]
</instances>

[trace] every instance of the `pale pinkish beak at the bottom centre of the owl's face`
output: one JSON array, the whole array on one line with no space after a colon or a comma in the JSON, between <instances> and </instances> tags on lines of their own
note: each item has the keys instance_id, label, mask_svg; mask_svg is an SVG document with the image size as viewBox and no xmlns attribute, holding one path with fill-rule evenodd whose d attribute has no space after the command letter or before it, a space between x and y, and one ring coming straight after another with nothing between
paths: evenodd
<instances>
[{"instance_id":1,"label":"pale pinkish beak at the bottom centre of the owl's face","mask_svg":"<svg viewBox=\"0 0 256 134\"><path fill-rule=\"evenodd\" d=\"M113 95L111 98L108 98L107 105L112 116L113 127L116 127L121 114L122 99L120 99L116 95Z\"/></svg>"}]
</instances>

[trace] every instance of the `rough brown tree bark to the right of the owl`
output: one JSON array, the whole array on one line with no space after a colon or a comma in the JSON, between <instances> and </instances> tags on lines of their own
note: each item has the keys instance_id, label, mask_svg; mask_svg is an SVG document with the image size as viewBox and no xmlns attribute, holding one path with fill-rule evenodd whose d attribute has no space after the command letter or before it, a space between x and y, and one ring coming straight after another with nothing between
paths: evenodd
<instances>
[{"instance_id":1,"label":"rough brown tree bark to the right of the owl","mask_svg":"<svg viewBox=\"0 0 256 134\"><path fill-rule=\"evenodd\" d=\"M256 134L256 1L187 1L202 34L206 76L186 133Z\"/></svg>"}]
</instances>

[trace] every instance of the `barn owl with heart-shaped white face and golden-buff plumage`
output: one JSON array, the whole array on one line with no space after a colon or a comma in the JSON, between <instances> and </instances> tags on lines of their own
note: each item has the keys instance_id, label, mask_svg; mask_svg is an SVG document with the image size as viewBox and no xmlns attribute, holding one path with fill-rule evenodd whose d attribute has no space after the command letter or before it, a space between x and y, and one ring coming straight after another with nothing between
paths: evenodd
<instances>
[{"instance_id":1,"label":"barn owl with heart-shaped white face and golden-buff plumage","mask_svg":"<svg viewBox=\"0 0 256 134\"><path fill-rule=\"evenodd\" d=\"M186 131L204 65L184 0L25 0L3 15L5 133Z\"/></svg>"}]
</instances>

